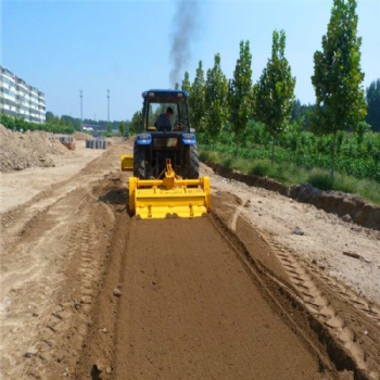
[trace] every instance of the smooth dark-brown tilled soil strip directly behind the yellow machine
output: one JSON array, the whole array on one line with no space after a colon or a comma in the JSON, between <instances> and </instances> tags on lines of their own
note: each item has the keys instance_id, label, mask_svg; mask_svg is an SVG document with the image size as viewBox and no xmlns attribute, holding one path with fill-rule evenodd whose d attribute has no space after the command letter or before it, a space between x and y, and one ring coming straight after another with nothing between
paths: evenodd
<instances>
[{"instance_id":1,"label":"smooth dark-brown tilled soil strip directly behind the yellow machine","mask_svg":"<svg viewBox=\"0 0 380 380\"><path fill-rule=\"evenodd\" d=\"M167 221L131 223L115 378L318 378L211 220Z\"/></svg>"}]
</instances>

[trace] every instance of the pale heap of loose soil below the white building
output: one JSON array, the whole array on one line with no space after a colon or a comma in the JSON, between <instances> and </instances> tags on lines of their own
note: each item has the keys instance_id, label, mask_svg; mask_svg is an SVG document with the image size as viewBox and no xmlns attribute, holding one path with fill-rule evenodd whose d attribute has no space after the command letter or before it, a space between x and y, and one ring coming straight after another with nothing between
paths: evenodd
<instances>
[{"instance_id":1,"label":"pale heap of loose soil below the white building","mask_svg":"<svg viewBox=\"0 0 380 380\"><path fill-rule=\"evenodd\" d=\"M0 124L0 172L23 170L27 167L55 166L51 155L75 154L55 135L45 131L12 131Z\"/></svg>"}]
</instances>

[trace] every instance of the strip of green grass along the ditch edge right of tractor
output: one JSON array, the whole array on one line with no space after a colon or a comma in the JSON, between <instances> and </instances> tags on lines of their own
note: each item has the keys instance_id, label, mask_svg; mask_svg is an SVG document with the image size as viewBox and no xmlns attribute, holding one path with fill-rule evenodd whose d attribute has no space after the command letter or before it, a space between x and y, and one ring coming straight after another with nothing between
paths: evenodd
<instances>
[{"instance_id":1,"label":"strip of green grass along the ditch edge right of tractor","mask_svg":"<svg viewBox=\"0 0 380 380\"><path fill-rule=\"evenodd\" d=\"M342 191L358 194L364 200L380 205L380 183L370 179L357 179L353 176L334 174L334 182L330 180L330 170L322 168L306 169L293 163L270 163L268 159L244 160L235 159L233 154L200 151L201 161L211 161L230 169L244 174L269 177L279 180L284 186L309 182L320 190Z\"/></svg>"}]
</instances>

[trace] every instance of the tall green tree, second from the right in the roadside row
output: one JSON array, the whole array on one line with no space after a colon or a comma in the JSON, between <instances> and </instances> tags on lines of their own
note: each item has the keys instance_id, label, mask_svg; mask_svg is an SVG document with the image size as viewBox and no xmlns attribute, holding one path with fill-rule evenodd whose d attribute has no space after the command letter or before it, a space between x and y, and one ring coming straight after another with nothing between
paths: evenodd
<instances>
[{"instance_id":1,"label":"tall green tree, second from the right in the roadside row","mask_svg":"<svg viewBox=\"0 0 380 380\"><path fill-rule=\"evenodd\" d=\"M271 136L271 162L275 155L275 141L284 131L294 101L295 77L284 56L286 35L283 30L273 34L271 58L258 83L254 86L254 114L264 123Z\"/></svg>"}]
</instances>

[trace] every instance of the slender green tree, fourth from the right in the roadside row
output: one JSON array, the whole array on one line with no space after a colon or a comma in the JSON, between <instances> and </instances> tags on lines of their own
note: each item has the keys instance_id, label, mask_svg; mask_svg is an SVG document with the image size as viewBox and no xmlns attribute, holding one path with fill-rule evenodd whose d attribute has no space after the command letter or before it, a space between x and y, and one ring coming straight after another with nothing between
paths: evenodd
<instances>
[{"instance_id":1,"label":"slender green tree, fourth from the right in the roadside row","mask_svg":"<svg viewBox=\"0 0 380 380\"><path fill-rule=\"evenodd\" d=\"M228 119L228 83L220 67L219 53L215 54L214 67L207 71L204 98L206 134L214 145Z\"/></svg>"}]
</instances>

